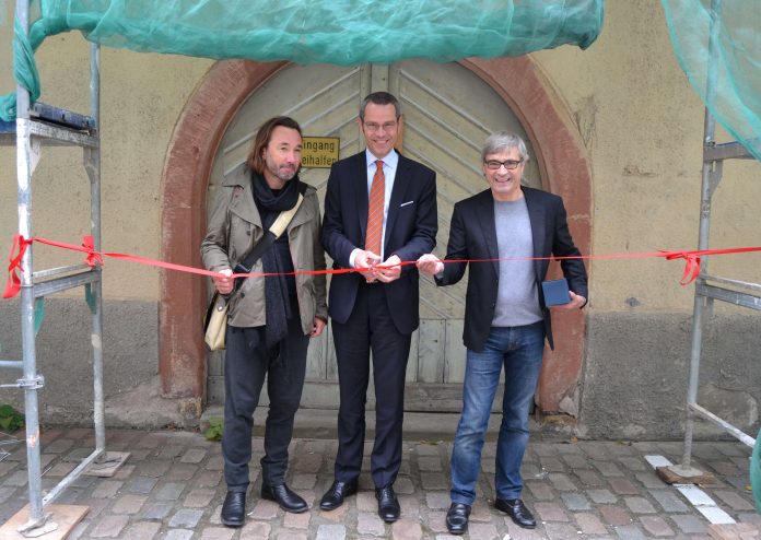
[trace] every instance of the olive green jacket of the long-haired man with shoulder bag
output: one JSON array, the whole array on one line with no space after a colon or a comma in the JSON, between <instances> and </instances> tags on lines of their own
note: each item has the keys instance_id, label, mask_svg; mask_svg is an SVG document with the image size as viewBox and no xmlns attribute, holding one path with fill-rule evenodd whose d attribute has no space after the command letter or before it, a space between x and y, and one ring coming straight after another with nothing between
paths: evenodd
<instances>
[{"instance_id":1,"label":"olive green jacket of the long-haired man with shoulder bag","mask_svg":"<svg viewBox=\"0 0 761 540\"><path fill-rule=\"evenodd\" d=\"M325 253L319 242L320 216L317 190L308 186L304 201L286 230L293 268L325 270ZM206 238L201 243L203 266L221 271L234 268L261 238L265 231L251 192L250 171L242 164L227 174L216 195L209 218ZM251 272L262 272L259 259ZM311 333L315 317L328 319L325 274L296 274L296 295L304 333ZM236 327L266 325L265 279L247 278L230 301L227 321Z\"/></svg>"}]
</instances>

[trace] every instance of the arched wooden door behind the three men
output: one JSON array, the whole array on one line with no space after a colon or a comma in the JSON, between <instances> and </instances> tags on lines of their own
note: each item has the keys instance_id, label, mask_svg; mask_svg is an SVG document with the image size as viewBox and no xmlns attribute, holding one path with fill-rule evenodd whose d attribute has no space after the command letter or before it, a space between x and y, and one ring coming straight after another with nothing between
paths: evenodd
<instances>
[{"instance_id":1,"label":"arched wooden door behind the three men","mask_svg":"<svg viewBox=\"0 0 761 540\"><path fill-rule=\"evenodd\" d=\"M224 174L246 160L257 127L273 115L295 118L305 136L337 137L340 157L363 150L355 121L361 99L388 91L402 104L401 151L436 171L438 235L443 255L455 202L485 189L480 149L489 133L506 129L528 140L519 121L489 85L457 63L422 60L391 66L340 68L289 66L254 92L230 122L214 157L207 199L208 211ZM302 179L325 196L328 168L305 168ZM540 186L530 162L526 177ZM421 324L412 337L407 369L410 410L458 410L465 369L463 313L467 280L436 287L421 280ZM221 402L224 392L223 353L210 353L208 395ZM302 406L337 408L338 388L331 332L315 340L308 353L307 384ZM372 385L371 385L372 399Z\"/></svg>"}]
</instances>

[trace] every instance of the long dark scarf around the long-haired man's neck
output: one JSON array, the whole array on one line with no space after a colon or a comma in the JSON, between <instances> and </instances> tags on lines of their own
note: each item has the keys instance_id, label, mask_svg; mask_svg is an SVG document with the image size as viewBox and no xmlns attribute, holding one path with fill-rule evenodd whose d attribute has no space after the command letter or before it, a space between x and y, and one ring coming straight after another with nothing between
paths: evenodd
<instances>
[{"instance_id":1,"label":"long dark scarf around the long-haired man's neck","mask_svg":"<svg viewBox=\"0 0 761 540\"><path fill-rule=\"evenodd\" d=\"M298 176L294 176L293 179L285 183L283 189L273 192L264 176L251 173L254 201L259 209L265 231L269 230L280 212L293 208L298 200L298 191L302 186L306 187L298 180ZM265 273L278 274L265 277L265 316L267 317L265 336L267 348L270 349L270 355L273 360L279 354L280 341L288 334L288 319L293 316L288 294L289 277L283 275L284 262L274 244L261 255L261 263ZM293 277L290 278L293 279Z\"/></svg>"}]
</instances>

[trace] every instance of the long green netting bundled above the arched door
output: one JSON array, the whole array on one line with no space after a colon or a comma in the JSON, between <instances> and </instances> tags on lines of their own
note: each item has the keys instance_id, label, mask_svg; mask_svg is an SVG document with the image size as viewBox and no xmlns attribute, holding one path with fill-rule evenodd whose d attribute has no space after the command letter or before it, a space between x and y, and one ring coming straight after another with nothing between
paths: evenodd
<instances>
[{"instance_id":1,"label":"long green netting bundled above the arched door","mask_svg":"<svg viewBox=\"0 0 761 540\"><path fill-rule=\"evenodd\" d=\"M33 51L72 30L139 51L350 66L586 48L602 11L604 0L37 0L27 43L16 28L14 75L36 98ZM15 116L14 98L0 107Z\"/></svg>"}]
</instances>

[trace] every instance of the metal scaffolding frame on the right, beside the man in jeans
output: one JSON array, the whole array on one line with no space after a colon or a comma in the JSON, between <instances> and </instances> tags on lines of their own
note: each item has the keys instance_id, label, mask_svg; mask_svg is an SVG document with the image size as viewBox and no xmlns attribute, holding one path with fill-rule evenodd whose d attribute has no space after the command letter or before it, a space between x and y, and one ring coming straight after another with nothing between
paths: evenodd
<instances>
[{"instance_id":1,"label":"metal scaffolding frame on the right, beside the man in jeans","mask_svg":"<svg viewBox=\"0 0 761 540\"><path fill-rule=\"evenodd\" d=\"M717 144L714 137L716 121L711 113L716 99L716 61L718 57L718 28L721 20L721 0L711 2L711 26L709 35L707 80L705 92L705 119L703 122L703 168L700 204L700 227L698 249L709 249L709 236L711 231L712 199L724 173L724 162L727 160L753 159L751 153L739 142ZM696 418L713 422L723 432L736 437L750 448L757 441L744 433L725 419L719 418L706 408L698 403L698 387L700 381L700 363L703 344L703 329L714 307L714 301L727 302L737 306L761 312L761 284L711 275L707 273L707 258L701 262L700 275L695 281L694 306L691 330L690 375L687 390L687 422L684 426L684 447L682 461L679 465L667 467L664 471L667 481L681 481L700 483L705 477L699 469L691 466L692 437ZM672 474L669 476L668 472ZM676 478L674 478L676 474Z\"/></svg>"}]
</instances>

